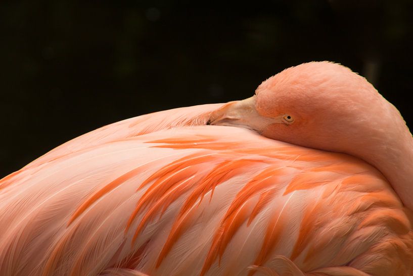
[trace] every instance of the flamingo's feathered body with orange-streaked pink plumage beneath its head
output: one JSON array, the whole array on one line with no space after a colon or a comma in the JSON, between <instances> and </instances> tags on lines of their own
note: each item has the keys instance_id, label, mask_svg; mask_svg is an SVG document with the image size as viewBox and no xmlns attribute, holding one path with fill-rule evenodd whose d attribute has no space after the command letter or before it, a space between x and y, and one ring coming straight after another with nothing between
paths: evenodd
<instances>
[{"instance_id":1,"label":"flamingo's feathered body with orange-streaked pink plumage beneath its head","mask_svg":"<svg viewBox=\"0 0 413 276\"><path fill-rule=\"evenodd\" d=\"M412 216L380 172L205 126L219 107L115 123L2 179L0 274L413 275Z\"/></svg>"}]
</instances>

